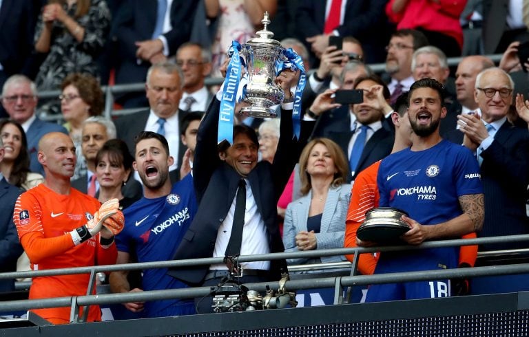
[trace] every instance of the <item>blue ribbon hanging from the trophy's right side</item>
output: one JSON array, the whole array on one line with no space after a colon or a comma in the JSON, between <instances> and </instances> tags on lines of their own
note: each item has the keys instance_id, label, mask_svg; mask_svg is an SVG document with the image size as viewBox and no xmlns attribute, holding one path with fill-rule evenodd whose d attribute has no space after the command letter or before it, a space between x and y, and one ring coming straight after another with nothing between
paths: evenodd
<instances>
[{"instance_id":1,"label":"blue ribbon hanging from the trophy's right side","mask_svg":"<svg viewBox=\"0 0 529 337\"><path fill-rule=\"evenodd\" d=\"M305 87L305 84L307 83L307 76L305 74L305 67L303 65L303 60L301 56L296 54L292 50L292 48L283 50L283 56L286 59L286 61L279 61L276 63L276 76L280 74L284 69L291 69L292 71L296 71L296 69L300 69L300 78L298 80L298 84L295 86L295 94L294 94L294 108L292 111L292 125L293 125L293 133L295 135L295 138L300 139L300 130L301 130L301 94L303 92L303 89Z\"/></svg>"}]
</instances>

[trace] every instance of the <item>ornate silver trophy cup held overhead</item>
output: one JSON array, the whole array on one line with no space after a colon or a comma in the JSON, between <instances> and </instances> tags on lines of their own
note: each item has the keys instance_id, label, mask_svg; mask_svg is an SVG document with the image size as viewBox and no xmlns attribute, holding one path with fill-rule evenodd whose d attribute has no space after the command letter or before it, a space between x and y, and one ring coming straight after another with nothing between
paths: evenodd
<instances>
[{"instance_id":1,"label":"ornate silver trophy cup held overhead","mask_svg":"<svg viewBox=\"0 0 529 337\"><path fill-rule=\"evenodd\" d=\"M282 57L283 47L279 41L272 39L273 32L267 30L270 24L268 12L264 12L262 19L264 28L257 36L242 45L241 54L245 56L248 72L246 94L242 102L249 104L243 107L240 114L257 118L276 117L276 111L271 109L284 98L283 90L276 85L276 62Z\"/></svg>"}]
</instances>

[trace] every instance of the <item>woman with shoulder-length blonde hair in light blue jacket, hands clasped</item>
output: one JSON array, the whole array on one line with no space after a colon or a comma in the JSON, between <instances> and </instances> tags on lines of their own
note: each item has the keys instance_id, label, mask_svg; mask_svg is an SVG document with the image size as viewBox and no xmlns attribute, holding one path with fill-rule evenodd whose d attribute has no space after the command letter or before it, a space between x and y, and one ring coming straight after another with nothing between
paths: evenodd
<instances>
[{"instance_id":1,"label":"woman with shoulder-length blonde hair in light blue jacket, hands clasped","mask_svg":"<svg viewBox=\"0 0 529 337\"><path fill-rule=\"evenodd\" d=\"M327 138L311 140L300 156L303 197L287 206L284 217L285 252L342 248L351 185L344 184L349 171L340 146ZM344 257L288 259L289 265L338 262Z\"/></svg>"}]
</instances>

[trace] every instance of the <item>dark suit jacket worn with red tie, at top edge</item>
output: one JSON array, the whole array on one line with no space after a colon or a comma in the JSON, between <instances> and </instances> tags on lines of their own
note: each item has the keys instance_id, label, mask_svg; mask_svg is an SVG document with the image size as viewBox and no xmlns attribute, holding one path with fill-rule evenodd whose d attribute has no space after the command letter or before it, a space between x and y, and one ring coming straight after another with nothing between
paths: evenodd
<instances>
[{"instance_id":1,"label":"dark suit jacket worn with red tie, at top edge","mask_svg":"<svg viewBox=\"0 0 529 337\"><path fill-rule=\"evenodd\" d=\"M387 18L384 13L386 0L349 0L344 14L344 24L338 26L340 36L354 36L362 43L366 63L383 62L384 45L389 40ZM295 27L301 41L323 33L326 0L299 1ZM377 36L377 39L373 39ZM311 50L309 48L309 50Z\"/></svg>"}]
</instances>

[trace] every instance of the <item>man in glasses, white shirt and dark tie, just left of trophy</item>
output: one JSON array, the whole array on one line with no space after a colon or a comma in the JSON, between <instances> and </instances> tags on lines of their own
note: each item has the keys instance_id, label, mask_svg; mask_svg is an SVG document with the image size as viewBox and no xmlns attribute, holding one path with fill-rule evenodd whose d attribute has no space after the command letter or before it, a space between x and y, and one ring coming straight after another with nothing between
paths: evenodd
<instances>
[{"instance_id":1,"label":"man in glasses, white shirt and dark tie, just left of trophy","mask_svg":"<svg viewBox=\"0 0 529 337\"><path fill-rule=\"evenodd\" d=\"M204 85L205 78L211 73L211 52L198 43L184 43L176 52L176 65L184 75L180 110L206 111L213 97Z\"/></svg>"}]
</instances>

